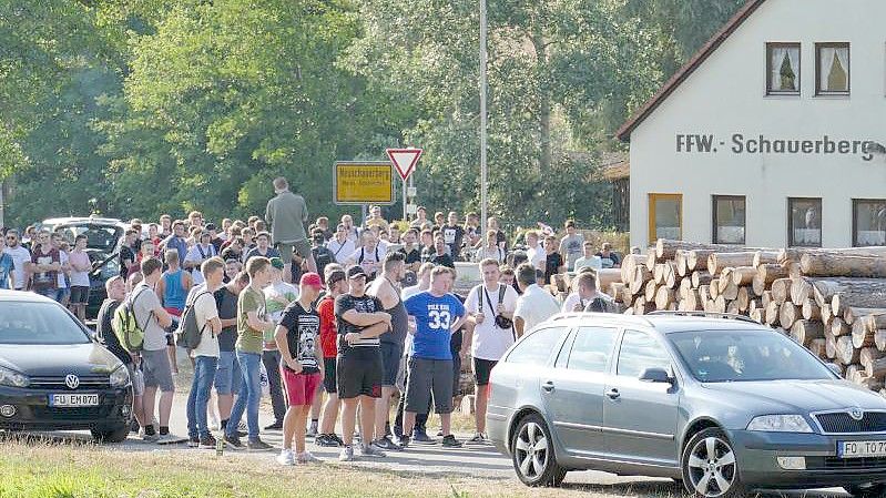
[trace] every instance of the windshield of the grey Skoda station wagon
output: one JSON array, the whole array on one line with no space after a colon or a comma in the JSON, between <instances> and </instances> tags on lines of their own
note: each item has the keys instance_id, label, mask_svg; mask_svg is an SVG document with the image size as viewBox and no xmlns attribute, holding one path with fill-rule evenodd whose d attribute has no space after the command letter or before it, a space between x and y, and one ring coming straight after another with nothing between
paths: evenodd
<instances>
[{"instance_id":1,"label":"windshield of the grey Skoda station wagon","mask_svg":"<svg viewBox=\"0 0 886 498\"><path fill-rule=\"evenodd\" d=\"M833 379L792 339L766 331L693 331L668 335L692 376L705 383Z\"/></svg>"}]
</instances>

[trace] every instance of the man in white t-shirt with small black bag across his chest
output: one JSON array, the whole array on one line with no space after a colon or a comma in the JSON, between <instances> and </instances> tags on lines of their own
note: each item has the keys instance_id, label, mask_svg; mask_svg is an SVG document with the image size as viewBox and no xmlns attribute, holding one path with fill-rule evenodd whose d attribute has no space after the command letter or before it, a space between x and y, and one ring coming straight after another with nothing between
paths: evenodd
<instances>
[{"instance_id":1,"label":"man in white t-shirt with small black bag across his chest","mask_svg":"<svg viewBox=\"0 0 886 498\"><path fill-rule=\"evenodd\" d=\"M465 301L465 308L472 316L473 331L468 333L465 344L470 344L477 394L475 421L477 434L470 444L486 443L486 409L489 403L489 374L501 355L513 344L513 311L517 308L517 291L510 285L499 284L499 263L487 258L480 262L483 283L473 287ZM470 329L470 327L469 327Z\"/></svg>"}]
</instances>

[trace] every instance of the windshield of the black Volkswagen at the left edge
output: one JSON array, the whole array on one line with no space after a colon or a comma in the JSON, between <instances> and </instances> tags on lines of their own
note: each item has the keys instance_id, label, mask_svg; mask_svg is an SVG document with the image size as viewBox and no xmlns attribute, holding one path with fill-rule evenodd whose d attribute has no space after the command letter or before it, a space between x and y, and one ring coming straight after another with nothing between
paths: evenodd
<instances>
[{"instance_id":1,"label":"windshield of the black Volkswagen at the left edge","mask_svg":"<svg viewBox=\"0 0 886 498\"><path fill-rule=\"evenodd\" d=\"M89 336L55 303L0 301L0 344L84 344Z\"/></svg>"}]
</instances>

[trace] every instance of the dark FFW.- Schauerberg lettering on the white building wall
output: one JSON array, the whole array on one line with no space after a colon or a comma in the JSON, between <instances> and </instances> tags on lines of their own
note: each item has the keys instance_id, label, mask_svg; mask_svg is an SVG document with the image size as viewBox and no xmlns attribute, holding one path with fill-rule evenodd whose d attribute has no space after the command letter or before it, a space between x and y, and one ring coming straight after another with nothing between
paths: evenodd
<instances>
[{"instance_id":1,"label":"dark FFW.- Schauerberg lettering on the white building wall","mask_svg":"<svg viewBox=\"0 0 886 498\"><path fill-rule=\"evenodd\" d=\"M733 154L797 154L797 155L858 155L863 161L872 161L878 148L873 140L845 140L823 135L816 139L782 139L763 134L745 136L733 133L729 145L717 141L713 134L676 134L679 153L717 153L727 148Z\"/></svg>"}]
</instances>

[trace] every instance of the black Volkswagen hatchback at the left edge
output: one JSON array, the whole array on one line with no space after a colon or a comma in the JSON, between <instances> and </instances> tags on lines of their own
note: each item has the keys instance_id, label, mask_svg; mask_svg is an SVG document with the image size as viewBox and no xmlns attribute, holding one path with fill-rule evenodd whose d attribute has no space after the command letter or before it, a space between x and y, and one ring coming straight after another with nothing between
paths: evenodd
<instances>
[{"instance_id":1,"label":"black Volkswagen hatchback at the left edge","mask_svg":"<svg viewBox=\"0 0 886 498\"><path fill-rule=\"evenodd\" d=\"M126 438L126 367L60 304L0 291L0 430L85 430Z\"/></svg>"}]
</instances>

